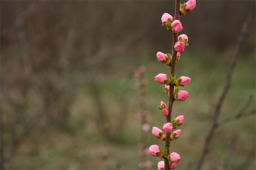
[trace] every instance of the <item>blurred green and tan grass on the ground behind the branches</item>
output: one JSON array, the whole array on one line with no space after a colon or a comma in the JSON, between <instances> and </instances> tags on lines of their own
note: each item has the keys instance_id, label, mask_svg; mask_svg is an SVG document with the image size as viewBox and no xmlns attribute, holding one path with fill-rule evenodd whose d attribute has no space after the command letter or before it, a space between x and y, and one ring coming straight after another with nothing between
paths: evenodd
<instances>
[{"instance_id":1,"label":"blurred green and tan grass on the ground behind the branches","mask_svg":"<svg viewBox=\"0 0 256 170\"><path fill-rule=\"evenodd\" d=\"M189 92L185 102L175 102L173 117L184 115L181 138L171 142L171 150L181 156L177 169L195 169L202 150L204 138L211 124L212 113L218 101L225 76L230 64L232 51L216 53L214 51L193 52L186 50L180 56L176 67L176 76L180 74L190 77L189 86L181 88ZM218 57L216 57L218 56ZM219 60L221 60L219 64ZM22 142L18 152L8 163L8 169L138 169L138 149L140 141L140 121L134 118L139 110L138 95L134 88L132 72L142 63L146 66L148 79L147 108L151 112L151 126L162 128L165 117L157 109L160 101L167 103L164 85L154 81L159 73L169 73L168 67L157 62L155 53L150 51L138 55L135 62L127 56L119 56L111 70L98 72L96 83L100 87L104 110L111 125L111 133L115 134L116 119L123 114L120 100L127 99L127 107L121 134L116 134L108 141L99 133L97 111L95 110L91 85L87 79L78 83L76 99L71 107L71 116L62 130L54 126L42 129L36 127L32 134ZM68 74L68 73L67 73ZM74 76L81 76L77 73ZM65 79L65 76L63 77ZM231 88L220 112L220 120L234 116L242 108L247 98L253 95L248 110L255 108L255 57L244 54L239 57ZM121 109L120 109L121 108ZM8 112L12 112L11 108ZM100 131L102 132L102 131ZM221 125L214 134L210 152L203 168L222 169L225 162L228 144L236 136L237 142L230 157L230 165L234 169L255 169L255 152L248 158L255 145L255 115L241 118L234 122ZM159 141L148 132L147 145L159 145ZM254 148L255 150L255 148ZM156 169L158 158L148 156Z\"/></svg>"}]
</instances>

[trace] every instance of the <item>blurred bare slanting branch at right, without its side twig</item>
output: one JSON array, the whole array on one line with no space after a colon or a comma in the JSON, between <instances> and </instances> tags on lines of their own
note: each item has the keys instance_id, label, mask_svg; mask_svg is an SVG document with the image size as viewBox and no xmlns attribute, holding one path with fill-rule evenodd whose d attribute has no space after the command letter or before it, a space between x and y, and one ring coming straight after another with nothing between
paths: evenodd
<instances>
[{"instance_id":1,"label":"blurred bare slanting branch at right, without its side twig","mask_svg":"<svg viewBox=\"0 0 256 170\"><path fill-rule=\"evenodd\" d=\"M204 158L208 152L208 149L209 149L209 144L210 144L210 141L212 139L212 136L213 136L213 133L214 133L214 130L215 128L217 127L217 120L218 120L218 117L219 117L219 114L220 114L220 108L222 106L222 103L228 93L228 89L230 87L230 81L231 81L231 76L233 74L233 71L234 71L234 67L236 66L236 61L237 61L237 58L238 58L238 54L239 54L239 51L241 49L241 46L242 46L242 42L244 40L244 37L248 31L248 25L249 25L249 22L251 20L251 15L248 15L244 24L243 24L243 27L242 27L242 30L241 30L241 34L240 36L238 37L238 41L237 41L237 44L236 44L236 48L234 50L234 53L233 53L233 57L232 57L232 61L231 61L231 64L230 64L230 67L229 67L229 70L228 70L228 74L227 74L227 78L226 78L226 83L225 83L225 87L220 95L220 99L219 99L219 102L217 103L217 106L215 108L215 112L213 114L213 120L212 120L212 126L208 132L208 135L207 137L205 138L205 142L204 142L204 147L203 147L203 151L202 151L202 154L201 154L201 157L198 161L198 164L197 164L197 169L201 169L202 167L202 164L204 162Z\"/></svg>"}]
</instances>

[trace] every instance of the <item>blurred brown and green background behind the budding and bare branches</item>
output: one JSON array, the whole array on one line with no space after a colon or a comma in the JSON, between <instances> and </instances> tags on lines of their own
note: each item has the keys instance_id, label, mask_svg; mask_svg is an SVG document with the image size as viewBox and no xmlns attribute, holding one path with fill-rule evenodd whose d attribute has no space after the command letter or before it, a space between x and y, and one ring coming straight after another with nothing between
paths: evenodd
<instances>
[{"instance_id":1,"label":"blurred brown and green background behind the budding and bare branches","mask_svg":"<svg viewBox=\"0 0 256 170\"><path fill-rule=\"evenodd\" d=\"M181 1L186 2L186 1ZM219 120L235 116L252 97L255 109L255 1L196 1L181 16L189 46L176 75L190 77L181 138L171 150L176 169L195 169L223 90L241 27L248 34ZM146 67L150 126L162 128L158 110L168 103L154 81L169 67L156 53L172 52L161 26L175 1L1 1L1 169L138 169L141 123L133 72ZM219 126L203 169L255 169L255 114ZM164 142L148 131L146 145ZM151 155L149 169L160 159Z\"/></svg>"}]
</instances>

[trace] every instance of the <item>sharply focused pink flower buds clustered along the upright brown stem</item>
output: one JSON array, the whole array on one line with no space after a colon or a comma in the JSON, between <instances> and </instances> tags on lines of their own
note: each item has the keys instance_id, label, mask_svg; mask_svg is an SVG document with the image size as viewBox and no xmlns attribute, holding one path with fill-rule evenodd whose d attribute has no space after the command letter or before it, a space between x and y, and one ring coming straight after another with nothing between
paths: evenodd
<instances>
[{"instance_id":1,"label":"sharply focused pink flower buds clustered along the upright brown stem","mask_svg":"<svg viewBox=\"0 0 256 170\"><path fill-rule=\"evenodd\" d=\"M195 6L196 6L196 0L189 0L186 3L180 4L180 15L185 15L186 13L194 10ZM175 17L176 16L177 16L177 13ZM167 30L170 30L174 34L173 37L175 37L176 39L176 37L178 36L178 33L181 32L183 29L182 24L179 20L179 17L173 18L170 14L164 13L161 18L161 21L162 21L162 25L166 27ZM173 68L171 66L174 66L175 68L175 64L180 60L180 53L183 53L185 47L188 46L188 36L186 34L179 35L177 42L173 44L173 46L175 51L173 51L172 54L174 56L177 55L176 60L175 60L175 57L172 58L172 55L169 53L162 53L162 52L156 53L156 58L158 59L158 61L163 63L166 66L170 66L170 68ZM172 63L172 62L175 62L175 63ZM155 76L156 82L165 85L164 87L165 92L168 94L169 97L171 97L171 101L169 101L169 104L172 103L174 100L185 101L188 98L188 92L185 90L180 90L180 87L187 86L190 83L191 79L186 76L180 76L178 79L176 80L175 79L176 79L176 76L174 74L174 71L173 71L173 74L170 75L170 79L167 74L163 74L163 73L160 73ZM176 88L174 89L174 87ZM172 107L168 108L169 104L168 106L166 106L166 104L163 101L161 101L160 106L158 107L158 109L161 110L162 115L167 117L166 118L167 123L163 125L163 130L165 133L158 127L152 128L152 134L156 138L162 141L168 140L168 142L180 138L181 130L178 129L174 131L174 129L182 125L184 120L184 116L180 115L178 117L174 117L172 122L169 122L171 119L171 113L172 113ZM169 115L169 112L170 112L170 115ZM151 145L149 147L148 153L159 158L164 158L165 161L160 161L157 164L157 169L159 170L175 169L176 162L180 161L180 155L178 153L176 152L169 153L168 145L166 145L166 148L163 151L160 149L158 145ZM165 166L168 166L168 162L169 162L169 167L165 167Z\"/></svg>"}]
</instances>

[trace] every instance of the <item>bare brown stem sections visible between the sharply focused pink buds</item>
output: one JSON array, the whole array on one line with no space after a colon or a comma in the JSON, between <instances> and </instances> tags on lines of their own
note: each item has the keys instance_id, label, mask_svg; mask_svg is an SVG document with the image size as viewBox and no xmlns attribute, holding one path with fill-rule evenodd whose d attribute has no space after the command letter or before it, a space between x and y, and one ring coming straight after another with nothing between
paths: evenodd
<instances>
[{"instance_id":1,"label":"bare brown stem sections visible between the sharply focused pink buds","mask_svg":"<svg viewBox=\"0 0 256 170\"><path fill-rule=\"evenodd\" d=\"M180 20L180 0L176 0L175 2L175 20ZM172 33L172 62L170 65L170 79L172 74L175 73L175 65L176 65L176 57L177 57L177 51L174 49L174 44L178 41L178 33ZM174 102L173 98L173 91L174 91L174 85L170 85L169 90L169 99L168 99L168 116L166 116L166 123L171 122L172 118L172 105ZM167 155L170 152L170 136L171 133L166 133L165 137L165 149L167 149ZM169 168L169 161L164 158L164 169L170 169Z\"/></svg>"}]
</instances>

